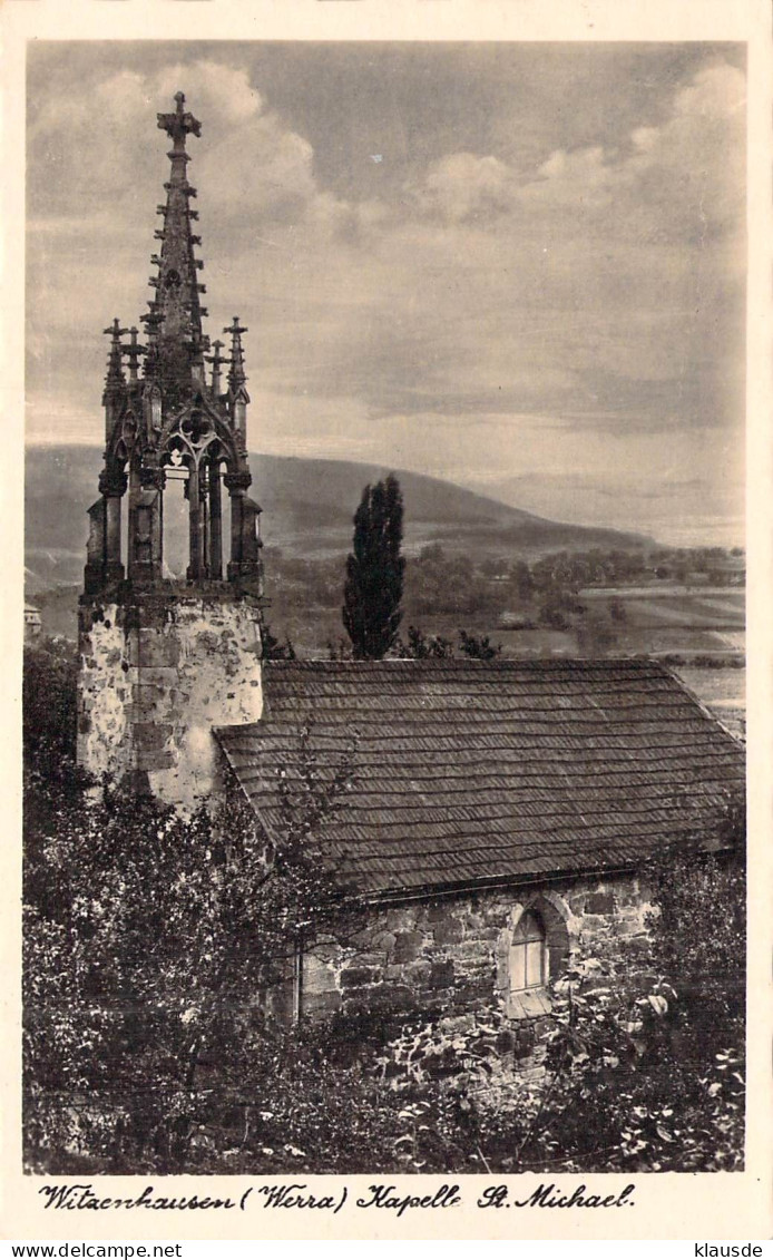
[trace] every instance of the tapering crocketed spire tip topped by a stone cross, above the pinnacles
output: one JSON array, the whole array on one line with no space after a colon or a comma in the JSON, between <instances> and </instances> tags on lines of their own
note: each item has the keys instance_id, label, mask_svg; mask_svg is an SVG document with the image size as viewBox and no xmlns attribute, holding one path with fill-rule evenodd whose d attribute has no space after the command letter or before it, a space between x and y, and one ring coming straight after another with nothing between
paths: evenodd
<instances>
[{"instance_id":1,"label":"tapering crocketed spire tip topped by a stone cross, above the pinnacles","mask_svg":"<svg viewBox=\"0 0 773 1260\"><path fill-rule=\"evenodd\" d=\"M205 286L198 281L204 265L194 253L199 237L190 231L191 220L198 218L190 209L196 190L188 181L190 154L185 149L188 136L201 135L201 123L185 110L183 92L175 94L174 112L159 113L157 121L160 130L171 137L172 146L167 154L171 171L164 185L166 204L157 208L164 218L164 227L156 232L161 252L151 257L156 273L149 285L155 294L149 314L142 316L149 340L145 375L157 379L183 401L204 382L204 350L208 349L201 328L206 311L200 302Z\"/></svg>"}]
</instances>

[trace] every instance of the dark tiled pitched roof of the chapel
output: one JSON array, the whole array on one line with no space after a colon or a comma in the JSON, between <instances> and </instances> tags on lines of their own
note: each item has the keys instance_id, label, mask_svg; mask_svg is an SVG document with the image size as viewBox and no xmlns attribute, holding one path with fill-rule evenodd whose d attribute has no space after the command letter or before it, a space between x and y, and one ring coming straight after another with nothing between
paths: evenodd
<instances>
[{"instance_id":1,"label":"dark tiled pitched roof of the chapel","mask_svg":"<svg viewBox=\"0 0 773 1260\"><path fill-rule=\"evenodd\" d=\"M322 828L363 891L452 888L636 864L709 825L743 750L648 660L274 662L266 712L215 735L256 811L300 731L353 785Z\"/></svg>"}]
</instances>

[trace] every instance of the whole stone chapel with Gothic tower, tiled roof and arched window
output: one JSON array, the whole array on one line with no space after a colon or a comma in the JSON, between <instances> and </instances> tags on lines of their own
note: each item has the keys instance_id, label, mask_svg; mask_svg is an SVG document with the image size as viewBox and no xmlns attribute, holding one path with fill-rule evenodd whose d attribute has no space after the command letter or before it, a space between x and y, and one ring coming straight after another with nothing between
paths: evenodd
<instances>
[{"instance_id":1,"label":"whole stone chapel with Gothic tower, tiled roof and arched window","mask_svg":"<svg viewBox=\"0 0 773 1260\"><path fill-rule=\"evenodd\" d=\"M247 329L234 316L227 343L204 333L186 151L201 126L181 92L157 123L170 173L144 334L106 329L79 761L188 811L235 782L271 838L302 732L322 766L354 738L351 790L319 839L370 926L356 948L308 942L292 1012L463 1012L499 995L526 1027L573 950L609 931L643 939L655 848L729 843L720 820L743 791L743 748L647 659L263 659ZM189 519L178 578L164 553L175 481Z\"/></svg>"}]
</instances>

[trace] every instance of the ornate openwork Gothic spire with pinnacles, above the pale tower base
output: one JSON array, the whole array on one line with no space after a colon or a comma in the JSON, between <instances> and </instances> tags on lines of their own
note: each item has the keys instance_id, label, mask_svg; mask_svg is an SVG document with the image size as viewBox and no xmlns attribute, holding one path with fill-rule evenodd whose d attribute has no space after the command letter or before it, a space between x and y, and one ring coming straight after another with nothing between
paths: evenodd
<instances>
[{"instance_id":1,"label":"ornate openwork Gothic spire with pinnacles, above the pale tower base","mask_svg":"<svg viewBox=\"0 0 773 1260\"><path fill-rule=\"evenodd\" d=\"M183 92L175 96L174 111L159 113L157 122L171 140L167 154L171 171L165 184L166 203L157 208L162 227L155 233L160 248L152 256L154 296L142 316L142 345L137 329L122 328L118 319L104 330L111 338L103 394L104 467L101 498L89 509L84 596L91 598L111 583L122 582L123 573L123 595L162 590L170 577L189 587L200 583L225 587L225 571L229 597L249 593L251 598L259 598L261 509L247 493L252 483L247 454L249 397L242 349L247 329L237 318L225 330L230 336L230 358L223 354L223 341L215 341L214 353L209 353L209 339L201 328L206 311L199 300L204 286L198 282L198 272L203 265L194 253L201 242L191 232L196 214L190 209L190 199L195 189L188 181L190 159L185 149L189 136L200 135L201 125L185 108ZM123 341L126 334L128 340ZM206 363L212 364L209 381ZM227 381L225 364L229 364ZM164 496L167 483L179 480L185 483L190 563L174 573L164 553ZM128 522L123 534L121 500L127 490ZM229 538L224 538L223 530L223 490L230 500ZM167 519L167 544L170 537L174 539L174 517ZM224 543L229 543L227 567Z\"/></svg>"}]
</instances>

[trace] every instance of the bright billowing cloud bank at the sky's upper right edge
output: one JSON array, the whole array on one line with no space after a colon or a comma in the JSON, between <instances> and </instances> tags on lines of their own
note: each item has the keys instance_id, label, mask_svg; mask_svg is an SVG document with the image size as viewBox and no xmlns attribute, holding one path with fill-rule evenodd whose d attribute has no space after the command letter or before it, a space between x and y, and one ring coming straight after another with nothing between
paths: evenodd
<instances>
[{"instance_id":1,"label":"bright billowing cloud bank at the sky's upper right edge","mask_svg":"<svg viewBox=\"0 0 773 1260\"><path fill-rule=\"evenodd\" d=\"M458 152L434 161L410 197L444 223L492 219L507 228L568 231L652 243L738 232L744 209L740 71L699 71L658 127L635 127L626 146L555 149L534 174L499 158Z\"/></svg>"}]
</instances>

